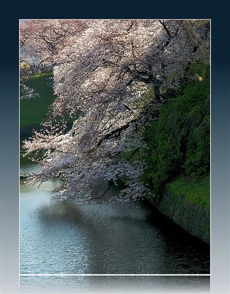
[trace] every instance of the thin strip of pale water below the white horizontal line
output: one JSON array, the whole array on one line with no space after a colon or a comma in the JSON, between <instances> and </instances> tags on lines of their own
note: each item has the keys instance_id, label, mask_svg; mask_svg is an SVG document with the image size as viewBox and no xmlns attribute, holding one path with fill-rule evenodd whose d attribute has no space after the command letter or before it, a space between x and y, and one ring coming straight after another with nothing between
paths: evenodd
<instances>
[{"instance_id":1,"label":"thin strip of pale water below the white horizontal line","mask_svg":"<svg viewBox=\"0 0 230 294\"><path fill-rule=\"evenodd\" d=\"M210 293L210 277L21 277L23 293Z\"/></svg>"}]
</instances>

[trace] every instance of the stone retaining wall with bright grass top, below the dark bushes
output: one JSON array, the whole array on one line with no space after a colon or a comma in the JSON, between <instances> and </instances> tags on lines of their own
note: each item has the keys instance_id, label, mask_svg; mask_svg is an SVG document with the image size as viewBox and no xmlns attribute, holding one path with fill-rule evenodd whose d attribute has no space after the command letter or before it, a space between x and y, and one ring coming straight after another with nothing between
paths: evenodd
<instances>
[{"instance_id":1,"label":"stone retaining wall with bright grass top, below the dark bushes","mask_svg":"<svg viewBox=\"0 0 230 294\"><path fill-rule=\"evenodd\" d=\"M168 183L162 197L145 199L160 222L178 225L184 232L210 244L210 203L201 201L208 198L210 193L209 179L206 183L186 184L181 177ZM183 184L182 184L183 183ZM182 187L178 188L181 185ZM202 186L203 185L203 186ZM186 187L186 191L183 190ZM193 189L193 190L192 190ZM193 191L194 197L190 198ZM195 200L194 200L195 199Z\"/></svg>"}]
</instances>

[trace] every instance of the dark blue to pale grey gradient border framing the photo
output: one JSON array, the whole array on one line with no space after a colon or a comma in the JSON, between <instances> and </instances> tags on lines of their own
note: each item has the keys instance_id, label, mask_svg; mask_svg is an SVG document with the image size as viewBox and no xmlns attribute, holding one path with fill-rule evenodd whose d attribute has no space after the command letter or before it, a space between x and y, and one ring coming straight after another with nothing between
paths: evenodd
<instances>
[{"instance_id":1,"label":"dark blue to pale grey gradient border framing the photo","mask_svg":"<svg viewBox=\"0 0 230 294\"><path fill-rule=\"evenodd\" d=\"M181 2L181 3L180 3ZM9 3L9 2L8 2ZM223 2L136 5L125 1L100 5L84 2L1 5L0 34L0 257L1 293L19 291L19 18L211 18L212 20L212 243L211 291L229 293L230 175L230 4ZM25 2L23 2L25 3ZM49 4L49 6L48 6ZM24 7L23 7L24 5ZM32 8L33 5L33 8ZM85 7L83 7L85 6ZM186 8L185 8L186 7ZM14 10L13 10L14 9ZM58 9L58 10L56 10Z\"/></svg>"}]
</instances>

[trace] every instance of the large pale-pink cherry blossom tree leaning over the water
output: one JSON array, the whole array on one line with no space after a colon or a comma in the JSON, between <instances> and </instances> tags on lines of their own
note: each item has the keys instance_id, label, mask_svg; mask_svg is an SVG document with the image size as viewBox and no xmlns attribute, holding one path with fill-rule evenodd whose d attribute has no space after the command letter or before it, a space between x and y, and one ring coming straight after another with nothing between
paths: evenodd
<instances>
[{"instance_id":1,"label":"large pale-pink cherry blossom tree leaning over the water","mask_svg":"<svg viewBox=\"0 0 230 294\"><path fill-rule=\"evenodd\" d=\"M208 21L85 21L52 55L57 99L44 130L25 141L28 153L47 150L31 182L61 174L55 197L64 201L101 198L118 180L125 183L119 201L146 195L140 177L148 124L177 93L191 62L209 62L209 43ZM65 133L64 118L79 112ZM98 183L103 189L95 196Z\"/></svg>"}]
</instances>

